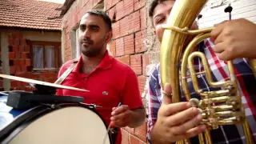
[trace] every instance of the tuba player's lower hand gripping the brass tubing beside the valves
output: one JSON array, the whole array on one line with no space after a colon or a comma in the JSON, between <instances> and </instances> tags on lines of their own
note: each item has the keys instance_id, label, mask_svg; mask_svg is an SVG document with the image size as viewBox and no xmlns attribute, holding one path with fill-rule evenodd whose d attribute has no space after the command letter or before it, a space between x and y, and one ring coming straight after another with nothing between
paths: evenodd
<instances>
[{"instance_id":1,"label":"tuba player's lower hand gripping the brass tubing beside the valves","mask_svg":"<svg viewBox=\"0 0 256 144\"><path fill-rule=\"evenodd\" d=\"M166 84L164 90L170 94L170 85ZM197 108L191 107L189 102L168 104L170 99L163 99L163 101L158 110L158 120L151 132L153 143L178 142L206 130L206 126L198 126L199 122L202 122L202 115Z\"/></svg>"}]
</instances>

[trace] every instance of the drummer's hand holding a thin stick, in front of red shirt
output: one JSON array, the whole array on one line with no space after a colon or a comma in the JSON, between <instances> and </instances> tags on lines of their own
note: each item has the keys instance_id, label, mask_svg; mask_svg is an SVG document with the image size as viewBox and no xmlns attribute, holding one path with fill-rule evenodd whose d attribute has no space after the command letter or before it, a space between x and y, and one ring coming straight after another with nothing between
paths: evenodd
<instances>
[{"instance_id":1,"label":"drummer's hand holding a thin stick, in front of red shirt","mask_svg":"<svg viewBox=\"0 0 256 144\"><path fill-rule=\"evenodd\" d=\"M125 127L130 124L131 121L131 110L129 106L122 105L119 107L113 107L113 112L111 113L111 127Z\"/></svg>"}]
</instances>

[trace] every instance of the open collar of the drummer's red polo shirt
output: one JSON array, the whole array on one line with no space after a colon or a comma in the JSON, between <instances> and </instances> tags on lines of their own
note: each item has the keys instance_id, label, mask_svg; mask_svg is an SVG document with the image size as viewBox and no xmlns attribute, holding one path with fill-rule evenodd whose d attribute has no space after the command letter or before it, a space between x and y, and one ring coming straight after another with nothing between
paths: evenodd
<instances>
[{"instance_id":1,"label":"open collar of the drummer's red polo shirt","mask_svg":"<svg viewBox=\"0 0 256 144\"><path fill-rule=\"evenodd\" d=\"M108 50L106 50L106 54L102 58L102 62L99 63L99 65L96 67L95 70L97 70L97 69L102 69L102 70L109 69L112 66L112 60L113 60L113 58L110 56ZM75 60L74 60L74 62L75 62ZM78 64L77 64L77 66L74 67L73 71L75 73L80 73L81 66L82 66L82 54L81 54L80 58L78 59Z\"/></svg>"}]
</instances>

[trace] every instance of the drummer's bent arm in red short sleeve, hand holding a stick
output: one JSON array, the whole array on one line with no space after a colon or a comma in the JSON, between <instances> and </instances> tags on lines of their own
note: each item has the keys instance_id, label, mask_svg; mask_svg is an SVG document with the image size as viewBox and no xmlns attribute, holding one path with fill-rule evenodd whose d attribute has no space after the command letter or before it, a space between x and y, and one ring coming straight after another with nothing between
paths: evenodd
<instances>
[{"instance_id":1,"label":"drummer's bent arm in red short sleeve, hand holding a stick","mask_svg":"<svg viewBox=\"0 0 256 144\"><path fill-rule=\"evenodd\" d=\"M128 72L121 94L123 105L113 108L111 122L118 127L141 126L145 121L146 111L138 87L138 78L133 70Z\"/></svg>"}]
</instances>

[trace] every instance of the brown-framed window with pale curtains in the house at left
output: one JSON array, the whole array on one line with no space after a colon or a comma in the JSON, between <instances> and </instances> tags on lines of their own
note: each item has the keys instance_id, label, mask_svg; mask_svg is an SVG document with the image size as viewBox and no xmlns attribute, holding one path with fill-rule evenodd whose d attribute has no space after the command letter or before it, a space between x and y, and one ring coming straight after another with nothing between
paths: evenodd
<instances>
[{"instance_id":1,"label":"brown-framed window with pale curtains in the house at left","mask_svg":"<svg viewBox=\"0 0 256 144\"><path fill-rule=\"evenodd\" d=\"M30 42L34 70L58 69L62 65L61 42Z\"/></svg>"}]
</instances>

